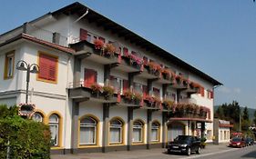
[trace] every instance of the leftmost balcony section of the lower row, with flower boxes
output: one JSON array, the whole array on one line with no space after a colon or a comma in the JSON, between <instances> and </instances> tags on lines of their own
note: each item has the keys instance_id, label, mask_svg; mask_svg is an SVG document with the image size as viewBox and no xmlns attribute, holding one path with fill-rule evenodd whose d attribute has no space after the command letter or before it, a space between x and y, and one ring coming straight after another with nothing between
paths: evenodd
<instances>
[{"instance_id":1,"label":"leftmost balcony section of the lower row, with flower boxes","mask_svg":"<svg viewBox=\"0 0 256 159\"><path fill-rule=\"evenodd\" d=\"M75 86L73 85L80 85L80 86ZM103 90L99 91L99 89L103 88ZM118 103L118 96L114 95L111 93L106 86L105 87L98 87L97 88L91 86L91 87L86 87L84 85L84 82L81 81L79 84L71 84L68 88L68 97L71 99L74 99L76 102L86 102L86 101L93 101L93 102L98 102L98 103L103 103L103 104L116 104Z\"/></svg>"}]
</instances>

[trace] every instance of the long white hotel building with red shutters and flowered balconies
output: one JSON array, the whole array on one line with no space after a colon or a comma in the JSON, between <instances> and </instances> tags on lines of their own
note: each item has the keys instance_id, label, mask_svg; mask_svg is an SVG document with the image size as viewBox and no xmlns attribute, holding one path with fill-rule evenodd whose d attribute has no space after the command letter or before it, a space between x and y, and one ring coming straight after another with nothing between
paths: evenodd
<instances>
[{"instance_id":1,"label":"long white hotel building with red shutters and flowered balconies","mask_svg":"<svg viewBox=\"0 0 256 159\"><path fill-rule=\"evenodd\" d=\"M52 153L164 147L179 134L212 142L220 82L85 5L0 35L0 104L26 101L20 60L39 65L28 103L50 125Z\"/></svg>"}]
</instances>

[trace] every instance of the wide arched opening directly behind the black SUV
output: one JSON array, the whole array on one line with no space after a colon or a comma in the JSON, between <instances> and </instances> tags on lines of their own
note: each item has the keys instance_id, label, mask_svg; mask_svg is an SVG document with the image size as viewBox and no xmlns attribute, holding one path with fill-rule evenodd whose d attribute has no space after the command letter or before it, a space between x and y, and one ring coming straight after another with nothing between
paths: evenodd
<instances>
[{"instance_id":1,"label":"wide arched opening directly behind the black SUV","mask_svg":"<svg viewBox=\"0 0 256 159\"><path fill-rule=\"evenodd\" d=\"M173 141L178 135L185 134L185 125L179 122L168 124L168 141Z\"/></svg>"}]
</instances>

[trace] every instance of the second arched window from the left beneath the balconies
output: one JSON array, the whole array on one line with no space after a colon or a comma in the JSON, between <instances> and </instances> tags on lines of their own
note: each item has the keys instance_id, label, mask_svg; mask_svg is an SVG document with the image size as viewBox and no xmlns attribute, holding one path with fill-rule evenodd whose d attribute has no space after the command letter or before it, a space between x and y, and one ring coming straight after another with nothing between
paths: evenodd
<instances>
[{"instance_id":1,"label":"second arched window from the left beneath the balconies","mask_svg":"<svg viewBox=\"0 0 256 159\"><path fill-rule=\"evenodd\" d=\"M122 132L123 123L118 119L110 121L110 141L109 144L121 144L122 143Z\"/></svg>"}]
</instances>

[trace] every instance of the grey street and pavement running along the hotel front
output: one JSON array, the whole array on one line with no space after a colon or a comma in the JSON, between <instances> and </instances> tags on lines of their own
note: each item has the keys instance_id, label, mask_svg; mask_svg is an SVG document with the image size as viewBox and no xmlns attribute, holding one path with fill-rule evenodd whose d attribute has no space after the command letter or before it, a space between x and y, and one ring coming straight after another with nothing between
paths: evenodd
<instances>
[{"instance_id":1,"label":"grey street and pavement running along the hotel front","mask_svg":"<svg viewBox=\"0 0 256 159\"><path fill-rule=\"evenodd\" d=\"M200 154L167 154L166 149L122 151L92 154L52 155L52 159L256 159L256 144L245 148L230 148L226 144L210 144Z\"/></svg>"}]
</instances>

